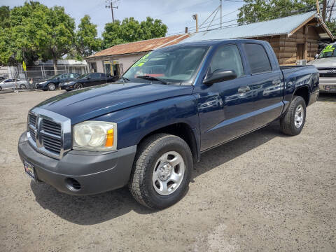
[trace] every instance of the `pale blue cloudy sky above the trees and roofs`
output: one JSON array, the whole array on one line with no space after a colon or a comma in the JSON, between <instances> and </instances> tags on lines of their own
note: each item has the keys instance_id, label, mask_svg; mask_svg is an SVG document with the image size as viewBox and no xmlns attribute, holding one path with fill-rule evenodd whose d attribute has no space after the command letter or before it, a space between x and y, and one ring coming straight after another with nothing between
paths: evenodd
<instances>
[{"instance_id":1,"label":"pale blue cloudy sky above the trees and roofs","mask_svg":"<svg viewBox=\"0 0 336 252\"><path fill-rule=\"evenodd\" d=\"M243 5L243 0L223 0L223 25L232 25L236 23L237 9ZM40 3L48 7L64 6L66 13L75 19L76 25L84 15L90 15L91 22L97 25L98 35L101 36L106 22L112 22L111 9L105 8L110 4L110 0L40 0ZM0 0L0 5L21 6L24 0ZM185 27L189 31L195 30L195 20L193 14L197 13L199 25L219 6L219 0L113 0L115 20L134 17L140 22L146 20L146 17L158 18L167 25L167 35L183 33ZM234 20L234 21L232 21ZM211 21L208 20L207 22ZM228 22L230 21L230 22ZM218 11L211 28L220 22L220 13ZM209 23L207 24L209 25ZM207 28L204 25L204 29Z\"/></svg>"}]
</instances>

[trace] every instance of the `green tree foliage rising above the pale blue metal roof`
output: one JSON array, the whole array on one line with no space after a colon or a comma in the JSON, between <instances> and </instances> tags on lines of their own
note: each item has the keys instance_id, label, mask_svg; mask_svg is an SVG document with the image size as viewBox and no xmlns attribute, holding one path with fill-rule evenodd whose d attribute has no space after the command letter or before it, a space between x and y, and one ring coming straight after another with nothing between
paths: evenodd
<instances>
[{"instance_id":1,"label":"green tree foliage rising above the pale blue metal roof","mask_svg":"<svg viewBox=\"0 0 336 252\"><path fill-rule=\"evenodd\" d=\"M238 23L245 25L252 22L282 18L293 13L304 13L314 8L315 0L244 0L239 8Z\"/></svg>"}]
</instances>

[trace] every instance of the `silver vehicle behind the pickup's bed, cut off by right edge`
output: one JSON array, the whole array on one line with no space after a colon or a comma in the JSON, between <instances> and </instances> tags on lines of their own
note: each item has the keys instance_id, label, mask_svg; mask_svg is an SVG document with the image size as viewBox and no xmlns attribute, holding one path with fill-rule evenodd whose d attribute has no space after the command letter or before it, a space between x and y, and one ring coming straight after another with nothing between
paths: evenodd
<instances>
[{"instance_id":1,"label":"silver vehicle behind the pickup's bed, cut off by right edge","mask_svg":"<svg viewBox=\"0 0 336 252\"><path fill-rule=\"evenodd\" d=\"M316 59L307 64L316 66L320 73L320 91L336 93L336 43L325 46Z\"/></svg>"}]
</instances>

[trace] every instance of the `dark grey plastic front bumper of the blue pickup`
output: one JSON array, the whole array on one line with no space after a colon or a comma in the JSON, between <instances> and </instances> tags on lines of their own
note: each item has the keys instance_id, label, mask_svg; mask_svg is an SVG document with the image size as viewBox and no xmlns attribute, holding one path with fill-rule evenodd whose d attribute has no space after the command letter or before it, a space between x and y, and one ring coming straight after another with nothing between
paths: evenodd
<instances>
[{"instance_id":1,"label":"dark grey plastic front bumper of the blue pickup","mask_svg":"<svg viewBox=\"0 0 336 252\"><path fill-rule=\"evenodd\" d=\"M18 144L22 162L27 160L34 165L38 181L71 195L93 195L125 186L136 151L137 146L108 153L73 150L56 160L35 151L27 140L27 132ZM71 186L73 179L80 184L79 190Z\"/></svg>"}]
</instances>

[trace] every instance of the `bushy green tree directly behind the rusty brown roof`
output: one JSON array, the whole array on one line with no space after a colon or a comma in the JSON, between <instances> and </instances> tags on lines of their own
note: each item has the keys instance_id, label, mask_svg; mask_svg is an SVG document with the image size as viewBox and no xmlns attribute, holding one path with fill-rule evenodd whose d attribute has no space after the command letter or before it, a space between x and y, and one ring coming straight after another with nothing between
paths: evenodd
<instances>
[{"instance_id":1,"label":"bushy green tree directly behind the rusty brown roof","mask_svg":"<svg viewBox=\"0 0 336 252\"><path fill-rule=\"evenodd\" d=\"M160 38L167 33L167 25L161 20L147 17L139 23L134 18L125 18L123 22L116 20L105 25L103 48L109 48L120 43L130 43L151 38Z\"/></svg>"}]
</instances>

